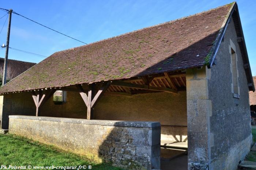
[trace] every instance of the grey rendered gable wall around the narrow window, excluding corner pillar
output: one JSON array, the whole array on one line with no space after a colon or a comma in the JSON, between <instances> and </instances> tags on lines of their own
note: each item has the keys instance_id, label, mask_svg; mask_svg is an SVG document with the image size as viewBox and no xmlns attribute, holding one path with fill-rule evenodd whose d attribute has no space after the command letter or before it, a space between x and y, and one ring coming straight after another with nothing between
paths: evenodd
<instances>
[{"instance_id":1,"label":"grey rendered gable wall around the narrow window, excluding corner pillar","mask_svg":"<svg viewBox=\"0 0 256 170\"><path fill-rule=\"evenodd\" d=\"M239 98L233 95L231 47L237 55ZM237 169L239 161L248 154L252 144L249 89L233 20L227 26L224 41L211 68L208 81L212 102L210 132L210 167L214 169ZM222 89L221 92L218 92Z\"/></svg>"}]
</instances>

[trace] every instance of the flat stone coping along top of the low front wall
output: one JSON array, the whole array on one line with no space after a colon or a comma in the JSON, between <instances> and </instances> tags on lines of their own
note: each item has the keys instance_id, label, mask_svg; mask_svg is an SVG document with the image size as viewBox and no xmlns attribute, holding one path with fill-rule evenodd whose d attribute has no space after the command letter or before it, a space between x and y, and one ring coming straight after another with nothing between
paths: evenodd
<instances>
[{"instance_id":1,"label":"flat stone coping along top of the low front wall","mask_svg":"<svg viewBox=\"0 0 256 170\"><path fill-rule=\"evenodd\" d=\"M23 115L10 115L9 118L42 120L42 121L50 121L50 122L95 124L95 125L103 125L103 126L150 127L150 128L161 127L161 124L159 122L87 120L87 119L75 119L75 118L55 118L55 117L45 117L45 116L23 116Z\"/></svg>"}]
</instances>

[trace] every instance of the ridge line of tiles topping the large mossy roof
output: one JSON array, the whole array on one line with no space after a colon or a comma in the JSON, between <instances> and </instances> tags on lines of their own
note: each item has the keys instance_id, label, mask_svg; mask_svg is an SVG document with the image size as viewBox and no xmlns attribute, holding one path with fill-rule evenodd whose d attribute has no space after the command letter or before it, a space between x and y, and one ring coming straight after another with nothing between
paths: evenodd
<instances>
[{"instance_id":1,"label":"ridge line of tiles topping the large mossy roof","mask_svg":"<svg viewBox=\"0 0 256 170\"><path fill-rule=\"evenodd\" d=\"M184 16L184 17L181 17L181 18L178 18L178 19L175 19L175 20L171 20L171 21L166 21L166 22L164 22L164 23L152 25L152 26L149 26L149 27L144 27L144 28L136 29L136 30L134 30L134 31L126 32L126 33L123 33L123 34L120 34L120 35L117 35L117 36L109 37L109 38L102 39L102 40L99 40L99 41L95 41L95 42L92 42L92 43L89 43L89 44L86 44L86 45L82 45L82 46L78 46L78 47L72 47L72 48L68 48L68 49L65 49L65 50L57 51L57 52L68 51L68 50L74 50L75 48L80 48L80 47L89 46L89 45L91 45L91 44L96 44L96 43L99 43L99 42L102 42L102 41L106 41L106 40L109 40L109 39L113 39L113 38L116 38L116 37L121 37L121 36L127 35L127 34L129 34L129 33L134 33L134 32L138 32L138 31L142 31L142 30L147 29L147 28L157 27L157 26L164 25L164 24L167 24L167 23L172 23L172 22L174 22L174 21L186 19L186 18L188 18L188 17L200 15L200 14L205 13L205 12L214 11L215 9L219 9L219 8L222 8L222 7L226 7L227 5L231 5L231 4L234 4L234 3L236 3L236 1L234 1L234 2L232 2L232 3L229 3L229 4L225 4L225 5L216 7L216 8L209 9L209 10L207 10L207 11L202 11L202 12L199 12L199 13L195 13L195 14L192 14L192 15L189 15L189 16ZM57 53L57 52L55 52L55 53Z\"/></svg>"}]
</instances>

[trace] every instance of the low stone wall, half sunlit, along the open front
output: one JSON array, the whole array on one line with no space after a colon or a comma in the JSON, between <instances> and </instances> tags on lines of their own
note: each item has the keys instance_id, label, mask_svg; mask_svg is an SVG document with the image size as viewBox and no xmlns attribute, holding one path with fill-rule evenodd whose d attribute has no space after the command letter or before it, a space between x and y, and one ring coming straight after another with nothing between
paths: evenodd
<instances>
[{"instance_id":1,"label":"low stone wall, half sunlit, along the open front","mask_svg":"<svg viewBox=\"0 0 256 170\"><path fill-rule=\"evenodd\" d=\"M9 133L128 169L160 169L159 122L12 115Z\"/></svg>"}]
</instances>

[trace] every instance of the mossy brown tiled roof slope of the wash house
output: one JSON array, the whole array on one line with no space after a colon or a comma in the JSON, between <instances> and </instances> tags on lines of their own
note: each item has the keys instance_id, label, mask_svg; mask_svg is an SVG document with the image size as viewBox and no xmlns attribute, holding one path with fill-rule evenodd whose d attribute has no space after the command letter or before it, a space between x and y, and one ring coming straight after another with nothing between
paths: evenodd
<instances>
[{"instance_id":1,"label":"mossy brown tiled roof slope of the wash house","mask_svg":"<svg viewBox=\"0 0 256 170\"><path fill-rule=\"evenodd\" d=\"M5 84L0 93L203 66L233 5L56 52Z\"/></svg>"}]
</instances>

